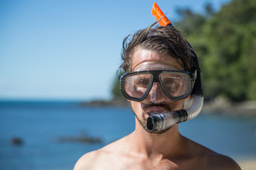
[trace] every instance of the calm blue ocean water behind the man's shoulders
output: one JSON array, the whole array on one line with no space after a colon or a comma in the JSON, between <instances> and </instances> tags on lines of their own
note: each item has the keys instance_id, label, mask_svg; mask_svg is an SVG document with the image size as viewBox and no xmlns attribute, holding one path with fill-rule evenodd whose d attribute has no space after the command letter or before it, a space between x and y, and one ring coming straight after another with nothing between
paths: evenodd
<instances>
[{"instance_id":1,"label":"calm blue ocean water behind the man's shoulders","mask_svg":"<svg viewBox=\"0 0 256 170\"><path fill-rule=\"evenodd\" d=\"M79 102L0 102L0 170L73 169L85 153L134 130L131 108ZM236 161L256 159L256 118L199 114L182 135ZM80 142L79 137L89 142ZM97 139L97 140L95 140Z\"/></svg>"}]
</instances>

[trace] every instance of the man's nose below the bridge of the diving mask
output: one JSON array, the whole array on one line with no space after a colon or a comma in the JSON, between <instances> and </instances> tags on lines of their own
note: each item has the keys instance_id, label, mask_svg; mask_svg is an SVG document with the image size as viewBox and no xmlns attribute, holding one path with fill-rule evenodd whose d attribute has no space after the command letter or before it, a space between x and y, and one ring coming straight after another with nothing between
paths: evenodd
<instances>
[{"instance_id":1,"label":"man's nose below the bridge of the diving mask","mask_svg":"<svg viewBox=\"0 0 256 170\"><path fill-rule=\"evenodd\" d=\"M169 100L159 82L154 82L146 98L152 103L163 103Z\"/></svg>"}]
</instances>

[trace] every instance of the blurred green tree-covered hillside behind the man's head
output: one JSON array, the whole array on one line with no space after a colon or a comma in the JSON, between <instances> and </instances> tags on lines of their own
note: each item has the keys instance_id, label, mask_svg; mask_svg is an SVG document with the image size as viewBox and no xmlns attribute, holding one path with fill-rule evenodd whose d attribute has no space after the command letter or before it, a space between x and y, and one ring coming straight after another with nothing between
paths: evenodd
<instances>
[{"instance_id":1,"label":"blurred green tree-covered hillside behind the man's head","mask_svg":"<svg viewBox=\"0 0 256 170\"><path fill-rule=\"evenodd\" d=\"M177 9L181 30L196 51L206 99L256 100L256 1L233 0L217 13ZM112 94L122 96L115 79Z\"/></svg>"}]
</instances>

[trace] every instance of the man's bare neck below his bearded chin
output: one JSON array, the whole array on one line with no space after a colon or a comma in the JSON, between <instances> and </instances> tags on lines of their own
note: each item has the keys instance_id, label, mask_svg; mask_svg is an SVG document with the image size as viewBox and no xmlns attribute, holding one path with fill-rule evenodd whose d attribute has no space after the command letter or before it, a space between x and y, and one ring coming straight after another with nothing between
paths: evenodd
<instances>
[{"instance_id":1,"label":"man's bare neck below his bearded chin","mask_svg":"<svg viewBox=\"0 0 256 170\"><path fill-rule=\"evenodd\" d=\"M178 124L161 134L147 132L138 122L136 130L132 133L134 147L146 157L175 157L181 152L181 138ZM172 152L170 152L172 151ZM172 153L173 155L170 155Z\"/></svg>"}]
</instances>

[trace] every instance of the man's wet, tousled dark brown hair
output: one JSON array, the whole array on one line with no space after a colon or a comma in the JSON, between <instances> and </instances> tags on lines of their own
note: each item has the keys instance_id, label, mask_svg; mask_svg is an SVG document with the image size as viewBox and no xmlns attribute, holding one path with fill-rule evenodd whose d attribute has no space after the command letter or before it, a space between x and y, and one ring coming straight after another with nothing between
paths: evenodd
<instances>
[{"instance_id":1,"label":"man's wet, tousled dark brown hair","mask_svg":"<svg viewBox=\"0 0 256 170\"><path fill-rule=\"evenodd\" d=\"M173 26L161 27L156 26L156 23L124 38L121 54L123 63L120 69L124 72L132 72L132 57L139 47L154 51L160 56L169 54L176 58L184 70L192 72L194 65L191 50L193 49L188 45L186 38Z\"/></svg>"}]
</instances>

